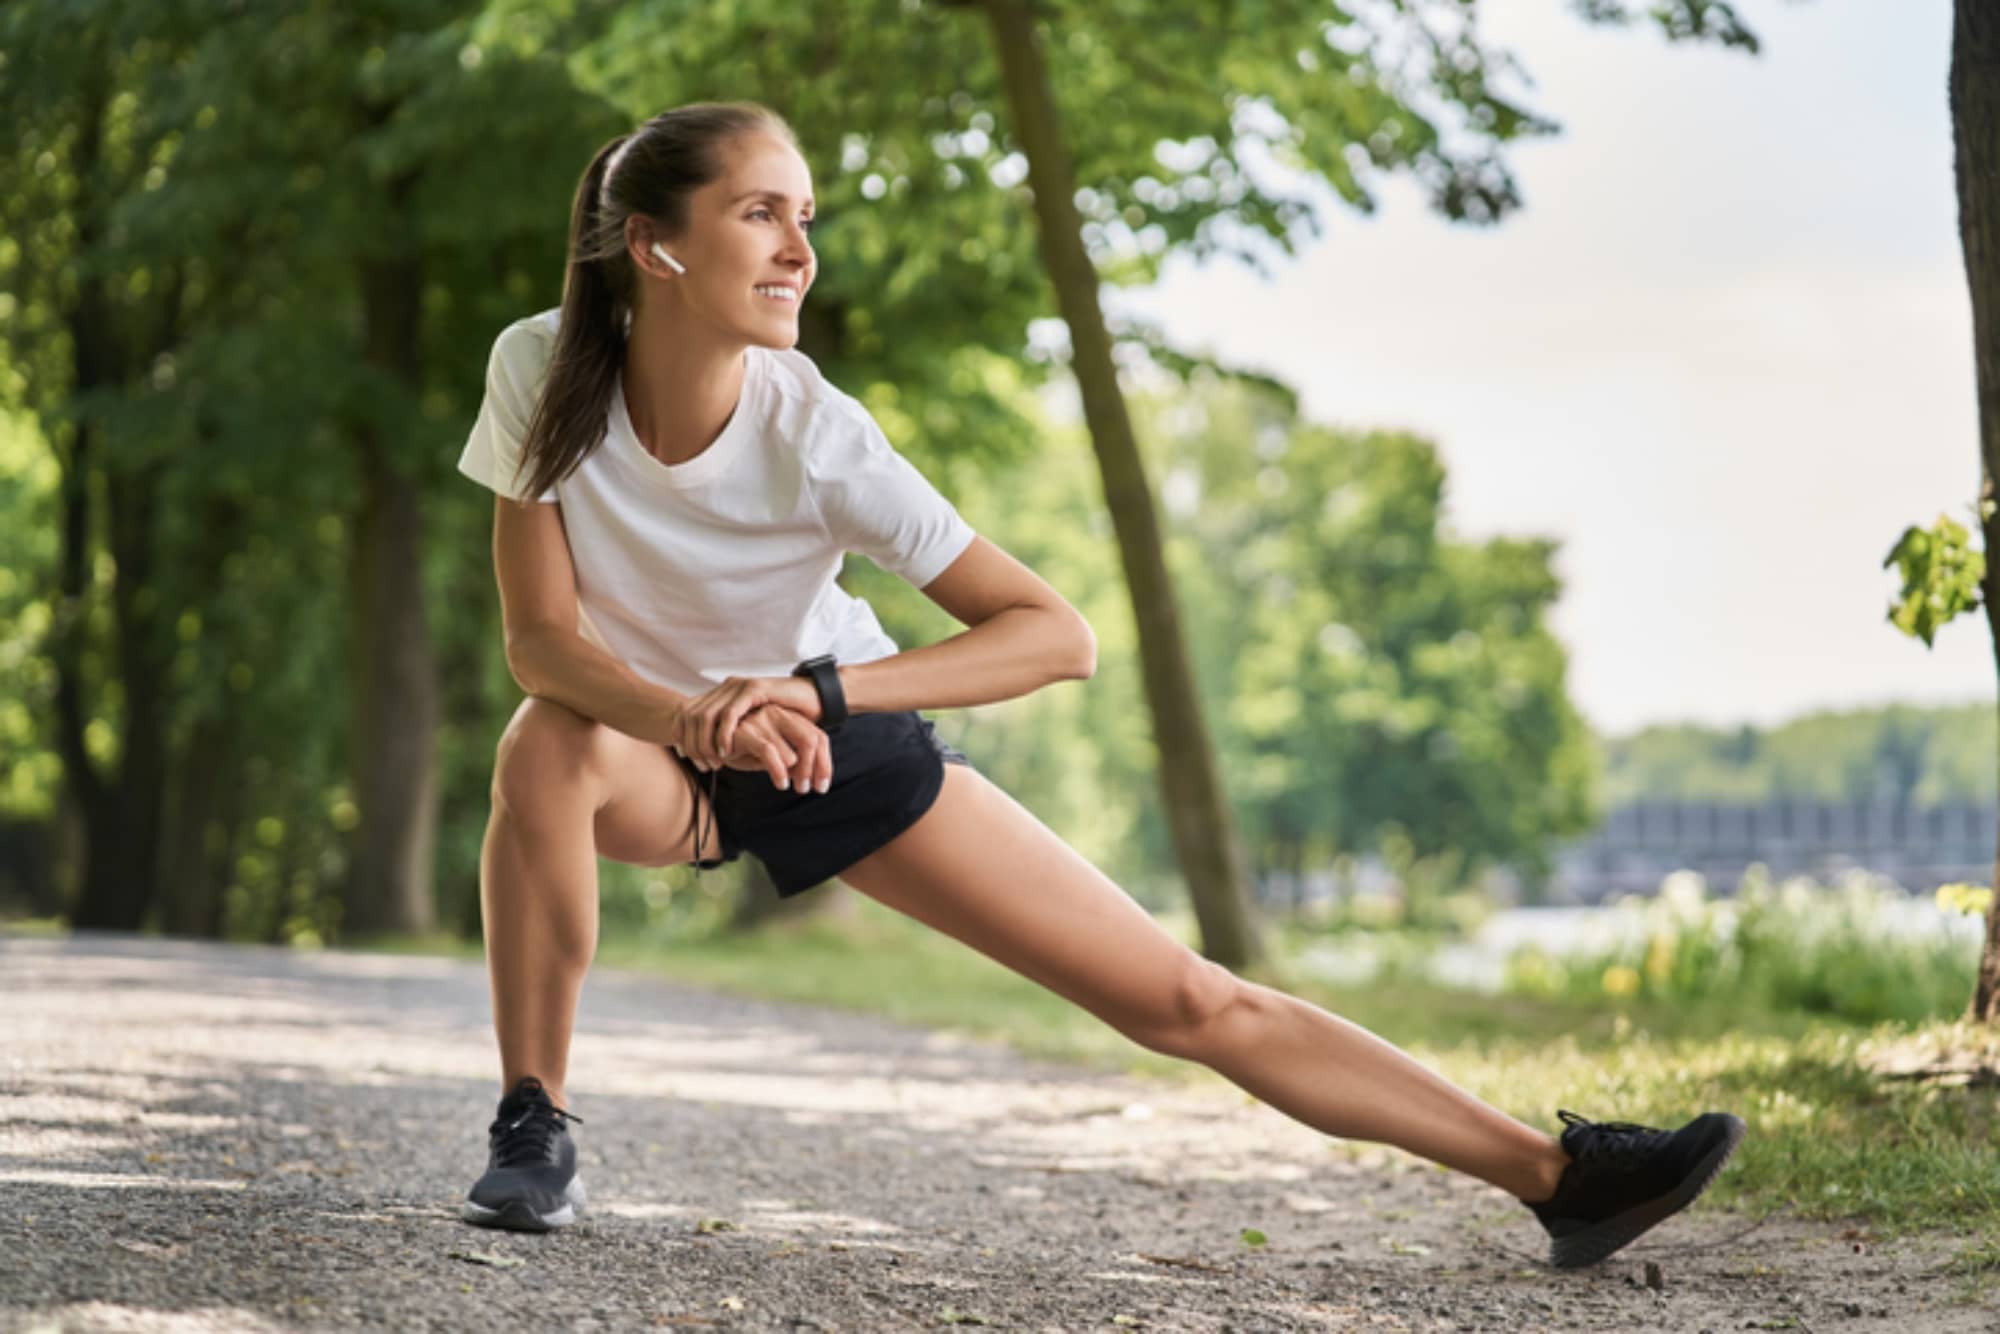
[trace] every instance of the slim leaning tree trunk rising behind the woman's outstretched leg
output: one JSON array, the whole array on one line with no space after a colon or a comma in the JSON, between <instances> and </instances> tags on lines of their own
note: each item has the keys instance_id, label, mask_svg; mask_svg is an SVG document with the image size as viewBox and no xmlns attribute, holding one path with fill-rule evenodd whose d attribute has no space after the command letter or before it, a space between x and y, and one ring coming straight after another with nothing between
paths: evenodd
<instances>
[{"instance_id":1,"label":"slim leaning tree trunk rising behind the woman's outstretched leg","mask_svg":"<svg viewBox=\"0 0 2000 1334\"><path fill-rule=\"evenodd\" d=\"M986 0L986 14L1000 52L1014 132L1028 156L1042 262L1070 326L1084 420L1096 446L1104 502L1118 532L1118 554L1132 594L1146 704L1160 752L1160 794L1174 852L1194 900L1202 952L1218 964L1242 968L1262 956L1248 906L1248 876L1188 666L1152 486L1118 388L1104 310L1098 304L1098 274L1084 250L1074 202L1076 180L1040 38L1024 0Z\"/></svg>"}]
</instances>

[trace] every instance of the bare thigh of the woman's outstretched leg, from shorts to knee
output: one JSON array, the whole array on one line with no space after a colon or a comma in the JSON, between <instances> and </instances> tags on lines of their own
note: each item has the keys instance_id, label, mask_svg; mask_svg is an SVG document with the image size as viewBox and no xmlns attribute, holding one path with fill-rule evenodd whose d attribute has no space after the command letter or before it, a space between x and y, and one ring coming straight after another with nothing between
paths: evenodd
<instances>
[{"instance_id":1,"label":"bare thigh of the woman's outstretched leg, from shorts to knee","mask_svg":"<svg viewBox=\"0 0 2000 1334\"><path fill-rule=\"evenodd\" d=\"M1238 994L1226 968L1174 940L1130 894L978 770L944 766L924 818L840 878L1156 1042Z\"/></svg>"}]
</instances>

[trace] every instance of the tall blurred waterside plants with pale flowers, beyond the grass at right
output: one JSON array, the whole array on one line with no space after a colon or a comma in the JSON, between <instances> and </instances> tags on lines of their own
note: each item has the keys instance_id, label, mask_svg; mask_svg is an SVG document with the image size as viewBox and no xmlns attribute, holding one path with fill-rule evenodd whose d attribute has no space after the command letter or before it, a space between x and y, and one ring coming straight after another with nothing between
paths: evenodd
<instances>
[{"instance_id":1,"label":"tall blurred waterside plants with pale flowers, beyond the grass at right","mask_svg":"<svg viewBox=\"0 0 2000 1334\"><path fill-rule=\"evenodd\" d=\"M1652 898L1626 898L1608 940L1552 956L1508 960L1508 990L1622 1002L1730 1002L1826 1014L1854 1024L1922 1022L1964 1008L1978 942L1916 930L1910 900L1854 876L1826 888L1782 886L1762 868L1736 898L1708 898L1698 876L1670 876Z\"/></svg>"}]
</instances>

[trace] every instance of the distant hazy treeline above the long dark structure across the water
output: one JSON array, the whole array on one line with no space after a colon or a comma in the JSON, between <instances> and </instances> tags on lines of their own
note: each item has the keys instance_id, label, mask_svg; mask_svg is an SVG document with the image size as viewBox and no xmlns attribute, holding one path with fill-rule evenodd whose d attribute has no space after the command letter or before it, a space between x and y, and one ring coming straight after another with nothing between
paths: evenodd
<instances>
[{"instance_id":1,"label":"distant hazy treeline above the long dark structure across the water","mask_svg":"<svg viewBox=\"0 0 2000 1334\"><path fill-rule=\"evenodd\" d=\"M1654 726L1602 742L1604 800L1994 802L1992 704L1834 710L1782 726Z\"/></svg>"}]
</instances>

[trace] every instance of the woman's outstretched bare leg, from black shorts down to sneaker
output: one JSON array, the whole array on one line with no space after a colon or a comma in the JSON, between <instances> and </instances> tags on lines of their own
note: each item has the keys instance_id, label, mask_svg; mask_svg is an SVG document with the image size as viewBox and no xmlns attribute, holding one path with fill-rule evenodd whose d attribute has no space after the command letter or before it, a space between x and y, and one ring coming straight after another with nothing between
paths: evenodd
<instances>
[{"instance_id":1,"label":"woman's outstretched bare leg, from black shorts down to sneaker","mask_svg":"<svg viewBox=\"0 0 2000 1334\"><path fill-rule=\"evenodd\" d=\"M1368 1030L1194 954L966 766L946 764L924 818L840 878L1326 1134L1394 1144L1522 1200L1554 1194L1568 1162L1552 1136Z\"/></svg>"}]
</instances>

